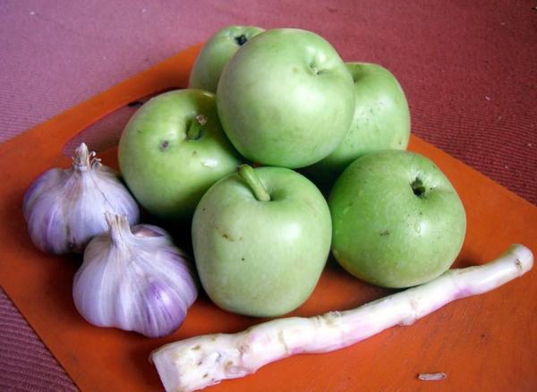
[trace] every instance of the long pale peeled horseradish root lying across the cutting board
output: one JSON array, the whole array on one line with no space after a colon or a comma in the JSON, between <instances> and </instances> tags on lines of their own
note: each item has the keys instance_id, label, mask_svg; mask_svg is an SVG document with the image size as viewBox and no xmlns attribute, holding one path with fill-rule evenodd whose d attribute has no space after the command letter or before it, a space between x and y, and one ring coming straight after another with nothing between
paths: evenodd
<instances>
[{"instance_id":1,"label":"long pale peeled horseradish root lying across the cutting board","mask_svg":"<svg viewBox=\"0 0 537 392\"><path fill-rule=\"evenodd\" d=\"M532 251L511 245L488 264L450 269L426 284L351 311L271 320L236 334L192 337L160 347L151 360L167 391L200 389L246 376L290 355L337 350L386 328L410 325L451 301L486 293L520 277L532 266Z\"/></svg>"}]
</instances>

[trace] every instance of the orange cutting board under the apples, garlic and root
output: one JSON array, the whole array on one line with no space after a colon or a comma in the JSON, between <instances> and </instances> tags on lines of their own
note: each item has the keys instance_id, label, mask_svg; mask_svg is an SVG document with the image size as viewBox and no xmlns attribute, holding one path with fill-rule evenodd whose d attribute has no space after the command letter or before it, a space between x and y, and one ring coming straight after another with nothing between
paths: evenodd
<instances>
[{"instance_id":1,"label":"orange cutting board under the apples, garlic and root","mask_svg":"<svg viewBox=\"0 0 537 392\"><path fill-rule=\"evenodd\" d=\"M21 213L22 195L37 175L53 166L69 166L70 159L61 153L66 141L133 100L186 86L199 49L189 48L0 145L0 284L82 390L161 389L157 371L148 362L153 349L260 322L220 311L201 295L170 337L149 339L93 327L72 303L72 276L80 257L39 252ZM537 208L417 137L410 149L434 160L465 204L468 233L456 267L482 264L510 243L537 251ZM103 163L117 167L115 153L112 149L102 154ZM183 241L189 235L175 233ZM293 314L350 309L389 293L350 277L328 260L315 292ZM491 293L450 303L413 326L390 328L334 353L272 363L213 390L537 390L536 300L537 272L531 271ZM416 378L420 372L436 371L446 372L447 379Z\"/></svg>"}]
</instances>

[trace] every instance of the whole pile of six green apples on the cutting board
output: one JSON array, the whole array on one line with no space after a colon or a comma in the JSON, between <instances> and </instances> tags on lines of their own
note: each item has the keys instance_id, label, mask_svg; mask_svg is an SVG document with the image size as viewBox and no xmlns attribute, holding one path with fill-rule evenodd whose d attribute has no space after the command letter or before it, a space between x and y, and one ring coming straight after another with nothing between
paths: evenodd
<instances>
[{"instance_id":1,"label":"whole pile of six green apples on the cutting board","mask_svg":"<svg viewBox=\"0 0 537 392\"><path fill-rule=\"evenodd\" d=\"M345 64L310 31L230 26L202 47L188 89L132 116L119 165L151 214L192 220L209 298L268 317L306 301L330 250L385 287L453 263L465 209L430 159L405 150L409 134L385 68Z\"/></svg>"}]
</instances>

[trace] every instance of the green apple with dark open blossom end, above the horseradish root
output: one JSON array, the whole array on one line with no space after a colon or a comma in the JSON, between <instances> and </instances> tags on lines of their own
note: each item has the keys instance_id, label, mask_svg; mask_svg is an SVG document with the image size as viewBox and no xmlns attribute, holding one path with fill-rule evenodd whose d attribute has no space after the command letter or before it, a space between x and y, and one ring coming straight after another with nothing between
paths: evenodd
<instances>
[{"instance_id":1,"label":"green apple with dark open blossom end, above the horseradish root","mask_svg":"<svg viewBox=\"0 0 537 392\"><path fill-rule=\"evenodd\" d=\"M328 205L334 257L373 285L430 281L451 266L465 240L465 209L456 190L430 159L412 152L356 159L337 179Z\"/></svg>"}]
</instances>

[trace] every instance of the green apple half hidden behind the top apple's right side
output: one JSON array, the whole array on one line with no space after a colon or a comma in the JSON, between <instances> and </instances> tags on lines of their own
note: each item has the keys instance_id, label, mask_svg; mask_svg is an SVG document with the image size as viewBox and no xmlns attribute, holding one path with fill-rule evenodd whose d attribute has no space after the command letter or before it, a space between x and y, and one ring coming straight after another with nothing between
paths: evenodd
<instances>
[{"instance_id":1,"label":"green apple half hidden behind the top apple's right side","mask_svg":"<svg viewBox=\"0 0 537 392\"><path fill-rule=\"evenodd\" d=\"M410 137L410 110L396 77L378 64L345 65L354 80L353 123L337 149L304 170L323 188L356 158L382 149L406 149Z\"/></svg>"}]
</instances>

